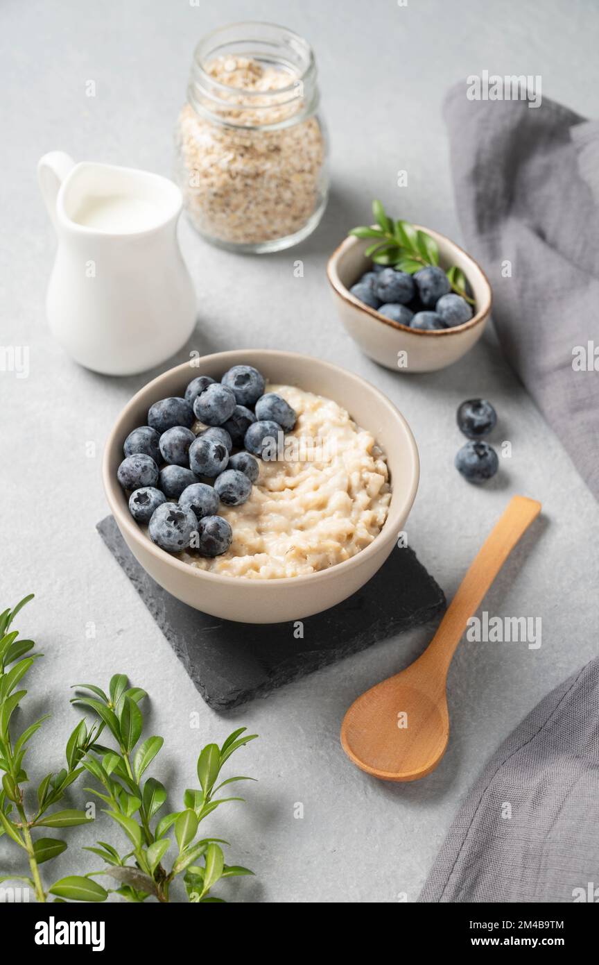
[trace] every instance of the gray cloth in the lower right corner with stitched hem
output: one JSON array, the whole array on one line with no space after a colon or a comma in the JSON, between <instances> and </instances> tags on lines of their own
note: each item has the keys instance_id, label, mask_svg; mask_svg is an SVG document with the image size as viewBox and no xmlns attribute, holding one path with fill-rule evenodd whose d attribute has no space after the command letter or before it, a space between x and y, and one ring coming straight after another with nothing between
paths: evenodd
<instances>
[{"instance_id":1,"label":"gray cloth in the lower right corner with stitched hem","mask_svg":"<svg viewBox=\"0 0 599 965\"><path fill-rule=\"evenodd\" d=\"M418 900L596 901L598 827L596 658L538 703L490 758Z\"/></svg>"}]
</instances>

